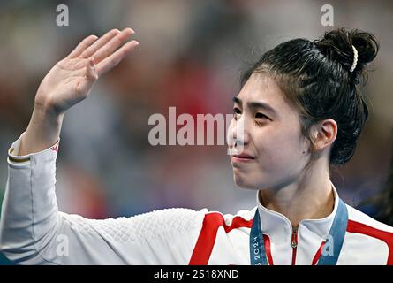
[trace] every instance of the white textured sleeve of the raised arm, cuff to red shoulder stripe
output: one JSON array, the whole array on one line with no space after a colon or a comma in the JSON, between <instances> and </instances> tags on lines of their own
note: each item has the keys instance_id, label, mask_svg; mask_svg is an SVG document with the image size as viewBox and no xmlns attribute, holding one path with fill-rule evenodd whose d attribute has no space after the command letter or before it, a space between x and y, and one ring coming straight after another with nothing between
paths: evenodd
<instances>
[{"instance_id":1,"label":"white textured sleeve of the raised arm, cuff to red shoulder stripe","mask_svg":"<svg viewBox=\"0 0 393 283\"><path fill-rule=\"evenodd\" d=\"M20 139L19 139L20 140ZM57 145L9 151L0 250L17 264L188 264L206 210L168 209L95 220L59 212ZM137 189L137 188L136 188Z\"/></svg>"}]
</instances>

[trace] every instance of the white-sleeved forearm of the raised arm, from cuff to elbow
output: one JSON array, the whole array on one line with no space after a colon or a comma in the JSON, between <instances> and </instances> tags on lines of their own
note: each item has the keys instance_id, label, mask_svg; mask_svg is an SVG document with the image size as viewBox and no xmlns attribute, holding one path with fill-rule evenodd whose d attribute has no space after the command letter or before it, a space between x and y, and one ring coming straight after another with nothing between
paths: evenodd
<instances>
[{"instance_id":1,"label":"white-sleeved forearm of the raised arm, from cuff to elbow","mask_svg":"<svg viewBox=\"0 0 393 283\"><path fill-rule=\"evenodd\" d=\"M57 151L46 149L17 157L11 152L19 147L18 142L14 142L9 151L8 180L0 221L0 249L11 260L23 262L39 254L41 246L56 231L54 169ZM37 262L31 263L39 262L39 257L35 258Z\"/></svg>"}]
</instances>

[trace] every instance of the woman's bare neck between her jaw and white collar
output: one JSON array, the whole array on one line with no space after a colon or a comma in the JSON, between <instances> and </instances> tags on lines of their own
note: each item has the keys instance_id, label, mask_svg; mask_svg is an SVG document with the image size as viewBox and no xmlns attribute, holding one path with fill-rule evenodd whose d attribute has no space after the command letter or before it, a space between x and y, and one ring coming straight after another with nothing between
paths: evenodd
<instances>
[{"instance_id":1,"label":"woman's bare neck between her jaw and white collar","mask_svg":"<svg viewBox=\"0 0 393 283\"><path fill-rule=\"evenodd\" d=\"M309 173L301 180L278 189L261 189L259 196L266 208L283 214L296 227L303 219L329 216L335 203L327 171Z\"/></svg>"}]
</instances>

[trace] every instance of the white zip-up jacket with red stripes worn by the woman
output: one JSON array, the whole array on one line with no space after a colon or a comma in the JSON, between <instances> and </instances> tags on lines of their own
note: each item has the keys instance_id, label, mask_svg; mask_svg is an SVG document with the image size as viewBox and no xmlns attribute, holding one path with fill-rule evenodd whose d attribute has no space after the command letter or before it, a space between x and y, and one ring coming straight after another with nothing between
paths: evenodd
<instances>
[{"instance_id":1,"label":"white zip-up jacket with red stripes worn by the woman","mask_svg":"<svg viewBox=\"0 0 393 283\"><path fill-rule=\"evenodd\" d=\"M19 139L20 140L20 139ZM57 209L58 143L18 157L9 174L0 223L0 249L17 264L250 264L250 228L259 210L268 264L316 264L336 214L303 220L295 237L282 214L258 205L236 215L168 209L132 218L94 220ZM393 264L393 228L349 205L337 264ZM294 245L295 246L295 245Z\"/></svg>"}]
</instances>

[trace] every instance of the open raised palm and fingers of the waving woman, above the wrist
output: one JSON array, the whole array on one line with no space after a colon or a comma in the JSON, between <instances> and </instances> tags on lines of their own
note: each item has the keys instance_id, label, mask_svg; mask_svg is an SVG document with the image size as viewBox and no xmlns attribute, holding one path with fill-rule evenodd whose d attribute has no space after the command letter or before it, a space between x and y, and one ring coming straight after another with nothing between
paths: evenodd
<instances>
[{"instance_id":1,"label":"open raised palm and fingers of the waving woman, above the wrist","mask_svg":"<svg viewBox=\"0 0 393 283\"><path fill-rule=\"evenodd\" d=\"M131 34L134 34L132 29L125 28L121 32L113 29L101 38L87 36L45 76L35 96L35 104L61 114L85 99L95 80L139 44L131 41L121 46Z\"/></svg>"}]
</instances>

